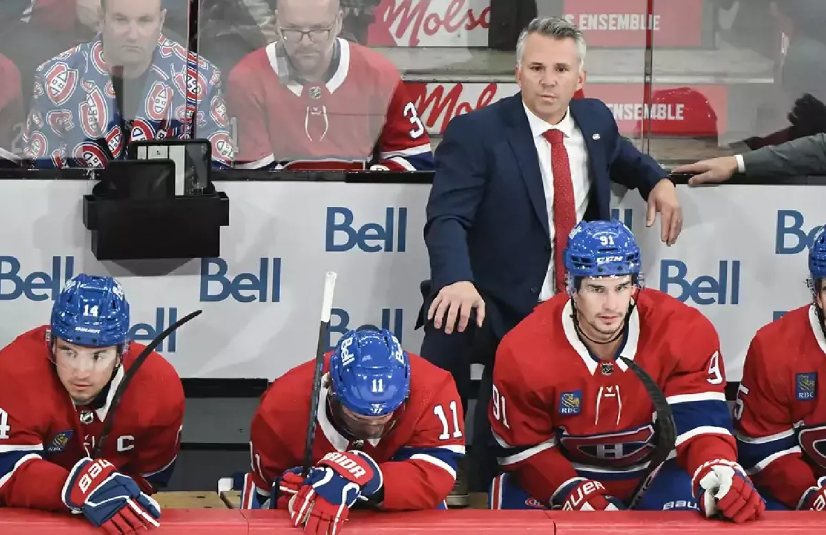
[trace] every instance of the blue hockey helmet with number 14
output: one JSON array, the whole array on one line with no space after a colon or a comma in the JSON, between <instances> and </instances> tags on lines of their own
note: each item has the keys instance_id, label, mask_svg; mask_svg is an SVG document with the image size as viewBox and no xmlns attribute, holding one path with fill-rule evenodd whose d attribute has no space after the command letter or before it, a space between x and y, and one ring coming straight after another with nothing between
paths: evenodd
<instances>
[{"instance_id":1,"label":"blue hockey helmet with number 14","mask_svg":"<svg viewBox=\"0 0 826 535\"><path fill-rule=\"evenodd\" d=\"M83 273L66 282L52 307L51 339L107 348L126 343L128 334L129 303L120 283Z\"/></svg>"}]
</instances>

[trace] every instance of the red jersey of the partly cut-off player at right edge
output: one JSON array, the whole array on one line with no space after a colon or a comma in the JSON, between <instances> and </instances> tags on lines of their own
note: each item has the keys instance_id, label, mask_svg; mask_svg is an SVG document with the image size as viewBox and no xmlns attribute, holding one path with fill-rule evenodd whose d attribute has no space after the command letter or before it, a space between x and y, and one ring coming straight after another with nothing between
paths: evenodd
<instances>
[{"instance_id":1,"label":"red jersey of the partly cut-off player at right edge","mask_svg":"<svg viewBox=\"0 0 826 535\"><path fill-rule=\"evenodd\" d=\"M826 476L826 339L814 305L757 331L734 402L740 462L757 488L797 509ZM824 403L821 403L824 401Z\"/></svg>"}]
</instances>

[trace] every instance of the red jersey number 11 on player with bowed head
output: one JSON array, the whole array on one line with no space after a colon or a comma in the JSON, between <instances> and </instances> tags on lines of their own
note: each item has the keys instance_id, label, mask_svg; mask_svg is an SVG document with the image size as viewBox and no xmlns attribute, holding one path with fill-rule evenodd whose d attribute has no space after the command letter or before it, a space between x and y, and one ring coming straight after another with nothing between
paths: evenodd
<instances>
[{"instance_id":1,"label":"red jersey number 11 on player with bowed head","mask_svg":"<svg viewBox=\"0 0 826 535\"><path fill-rule=\"evenodd\" d=\"M330 421L327 409L330 355L319 397L312 462L330 452L360 449L378 463L384 481L382 509L434 509L453 489L456 464L464 456L464 419L453 377L412 353L411 391L392 430L381 439L350 442ZM273 481L304 460L315 362L279 377L264 393L250 431L252 480L269 494ZM244 489L244 496L255 492ZM250 507L242 504L242 508Z\"/></svg>"}]
</instances>

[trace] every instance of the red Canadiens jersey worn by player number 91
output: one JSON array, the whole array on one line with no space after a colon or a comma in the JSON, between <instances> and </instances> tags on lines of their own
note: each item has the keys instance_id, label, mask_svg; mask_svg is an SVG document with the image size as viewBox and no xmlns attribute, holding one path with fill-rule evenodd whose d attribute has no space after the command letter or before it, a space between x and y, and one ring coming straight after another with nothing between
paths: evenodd
<instances>
[{"instance_id":1,"label":"red Canadiens jersey worn by player number 91","mask_svg":"<svg viewBox=\"0 0 826 535\"><path fill-rule=\"evenodd\" d=\"M690 475L735 460L724 365L714 327L699 311L645 289L619 356L648 372L676 423L676 459ZM539 305L496 352L489 418L499 463L542 504L574 477L628 499L656 445L654 407L620 361L601 361L577 336L569 297Z\"/></svg>"}]
</instances>

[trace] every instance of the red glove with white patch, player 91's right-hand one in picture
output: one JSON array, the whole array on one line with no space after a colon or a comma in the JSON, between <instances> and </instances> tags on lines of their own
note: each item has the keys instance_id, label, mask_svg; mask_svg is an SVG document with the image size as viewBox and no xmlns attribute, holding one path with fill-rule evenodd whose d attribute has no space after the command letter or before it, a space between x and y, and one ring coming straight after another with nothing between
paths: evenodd
<instances>
[{"instance_id":1,"label":"red glove with white patch, player 91's right-hand one in picture","mask_svg":"<svg viewBox=\"0 0 826 535\"><path fill-rule=\"evenodd\" d=\"M714 459L702 464L691 478L694 499L700 513L716 514L735 523L755 520L766 510L766 501L757 494L743 467L736 462Z\"/></svg>"}]
</instances>

